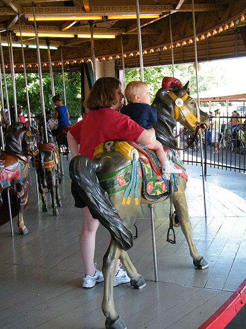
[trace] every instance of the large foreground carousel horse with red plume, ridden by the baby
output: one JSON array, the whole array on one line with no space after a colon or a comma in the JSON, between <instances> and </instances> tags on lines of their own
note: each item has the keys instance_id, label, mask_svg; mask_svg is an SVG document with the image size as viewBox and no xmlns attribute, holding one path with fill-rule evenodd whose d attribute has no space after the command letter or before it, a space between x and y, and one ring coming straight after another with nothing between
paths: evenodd
<instances>
[{"instance_id":1,"label":"large foreground carousel horse with red plume, ridden by the baby","mask_svg":"<svg viewBox=\"0 0 246 329\"><path fill-rule=\"evenodd\" d=\"M99 219L111 234L111 242L103 257L104 296L102 311L107 329L126 328L117 314L113 299L113 279L117 260L120 258L130 284L141 289L146 284L133 266L127 250L132 247L132 228L139 203L152 204L165 200L173 191L175 215L172 217L182 228L190 256L197 269L208 266L199 254L192 237L184 190L187 181L184 164L175 148L177 141L173 130L178 120L185 128L200 132L209 125L208 115L197 108L189 96L188 83L183 87L175 78L164 78L162 88L155 96L152 107L157 110L154 124L156 138L162 143L169 157L182 174L162 175L154 151L147 152L130 141L107 141L96 147L93 160L83 155L75 156L70 163L71 179L87 203L94 218ZM172 176L172 185L169 181Z\"/></svg>"}]
</instances>

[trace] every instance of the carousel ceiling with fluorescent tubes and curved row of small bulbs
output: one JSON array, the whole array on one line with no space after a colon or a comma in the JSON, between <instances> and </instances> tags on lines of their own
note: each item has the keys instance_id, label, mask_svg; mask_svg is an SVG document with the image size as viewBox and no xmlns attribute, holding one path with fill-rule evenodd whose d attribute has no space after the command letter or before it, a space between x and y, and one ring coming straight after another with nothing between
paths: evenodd
<instances>
[{"instance_id":1,"label":"carousel ceiling with fluorescent tubes and curved row of small bulbs","mask_svg":"<svg viewBox=\"0 0 246 329\"><path fill-rule=\"evenodd\" d=\"M246 56L246 0L194 2L198 61ZM191 0L139 0L139 13L145 66L170 64L172 46L175 63L194 61ZM1 0L1 43L12 43L16 72L23 65L20 34L27 70L37 69L35 23L55 70L61 58L67 70L91 61L92 34L96 60L116 59L121 68L124 57L126 68L139 67L135 0ZM2 49L8 69L9 50ZM40 58L48 69L47 49L40 49Z\"/></svg>"}]
</instances>

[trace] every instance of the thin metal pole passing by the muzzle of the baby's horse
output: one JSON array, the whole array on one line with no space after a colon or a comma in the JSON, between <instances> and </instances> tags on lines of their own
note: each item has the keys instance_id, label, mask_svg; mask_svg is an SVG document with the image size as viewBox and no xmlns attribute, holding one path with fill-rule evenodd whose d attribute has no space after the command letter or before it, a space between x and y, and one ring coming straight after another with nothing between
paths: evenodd
<instances>
[{"instance_id":1,"label":"thin metal pole passing by the muzzle of the baby's horse","mask_svg":"<svg viewBox=\"0 0 246 329\"><path fill-rule=\"evenodd\" d=\"M196 25L195 25L196 23L195 23L195 9L194 8L195 8L195 6L194 6L194 0L192 0L192 20L193 20L193 33L194 33L194 51L195 51L195 67L196 67L197 103L198 103L198 109L200 109L199 82L198 82L198 64L197 64L197 48L196 48ZM200 118L198 118L198 119L200 119ZM204 166L204 162L203 162L202 131L200 131L200 143L201 143L201 166L202 166L204 212L205 212L205 219L207 219L205 177L204 177L204 167L203 167Z\"/></svg>"}]
</instances>

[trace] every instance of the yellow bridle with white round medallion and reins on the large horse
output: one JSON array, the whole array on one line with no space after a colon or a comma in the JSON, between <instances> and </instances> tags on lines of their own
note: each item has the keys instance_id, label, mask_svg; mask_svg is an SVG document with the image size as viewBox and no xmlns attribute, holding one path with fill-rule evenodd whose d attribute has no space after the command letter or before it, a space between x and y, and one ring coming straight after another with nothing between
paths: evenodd
<instances>
[{"instance_id":1,"label":"yellow bridle with white round medallion and reins on the large horse","mask_svg":"<svg viewBox=\"0 0 246 329\"><path fill-rule=\"evenodd\" d=\"M192 141L190 142L190 144L188 146L185 146L184 149L188 149L190 146L192 146L192 144L194 143L196 136L198 134L201 122L200 122L200 111L197 107L197 104L195 102L195 106L196 106L196 116L184 105L184 101L186 100L186 98L189 96L187 93L184 94L183 97L179 98L177 97L172 91L168 91L167 95L169 95L172 100L174 100L175 102L175 107L174 107L174 118L175 120L179 119L179 110L181 111L181 113L184 115L185 120L187 121L187 123L192 127L195 128L195 134L194 137L192 139ZM182 130L182 132L175 136L175 138L178 138L180 135L182 135L184 133L184 131L187 130L186 128L184 128ZM166 143L167 144L167 143ZM176 146L172 146L172 145L167 145L170 146L174 149L177 150L182 150L182 148L176 147Z\"/></svg>"}]
</instances>

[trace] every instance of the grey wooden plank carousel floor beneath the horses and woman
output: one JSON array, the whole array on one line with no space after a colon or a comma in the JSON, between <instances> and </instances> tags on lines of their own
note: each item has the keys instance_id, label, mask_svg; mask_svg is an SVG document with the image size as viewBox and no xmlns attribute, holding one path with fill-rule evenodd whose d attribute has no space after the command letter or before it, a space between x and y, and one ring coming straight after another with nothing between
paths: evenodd
<instances>
[{"instance_id":1,"label":"grey wooden plank carousel floor beneath the horses and woman","mask_svg":"<svg viewBox=\"0 0 246 329\"><path fill-rule=\"evenodd\" d=\"M82 289L84 267L78 243L82 218L74 208L65 159L64 171L58 217L52 216L51 207L42 213L32 169L30 202L24 213L29 234L18 234L16 219L13 238L9 222L0 226L0 328L104 328L103 284ZM201 167L188 165L187 172L193 237L209 267L194 268L180 228L175 228L177 244L166 242L169 202L159 203L154 207L159 282L154 282L149 208L142 206L137 219L139 237L129 256L147 286L140 291L130 284L114 288L116 310L128 329L197 329L246 278L245 175L208 169L205 219ZM47 197L50 200L48 193ZM108 235L100 225L95 254L98 268ZM233 328L246 328L246 319Z\"/></svg>"}]
</instances>

